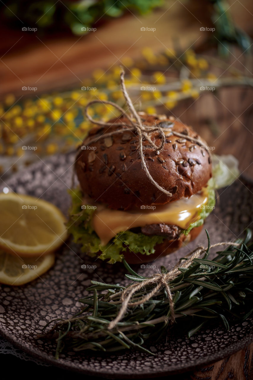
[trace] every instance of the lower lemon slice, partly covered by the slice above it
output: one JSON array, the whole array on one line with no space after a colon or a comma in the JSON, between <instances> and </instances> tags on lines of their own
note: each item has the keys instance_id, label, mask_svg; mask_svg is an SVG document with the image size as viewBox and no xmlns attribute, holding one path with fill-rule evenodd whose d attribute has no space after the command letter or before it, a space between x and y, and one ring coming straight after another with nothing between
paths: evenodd
<instances>
[{"instance_id":1,"label":"lower lemon slice, partly covered by the slice above it","mask_svg":"<svg viewBox=\"0 0 253 380\"><path fill-rule=\"evenodd\" d=\"M48 271L54 264L55 255L41 256L39 258L20 258L17 255L0 250L0 283L6 285L24 285L35 280Z\"/></svg>"}]
</instances>

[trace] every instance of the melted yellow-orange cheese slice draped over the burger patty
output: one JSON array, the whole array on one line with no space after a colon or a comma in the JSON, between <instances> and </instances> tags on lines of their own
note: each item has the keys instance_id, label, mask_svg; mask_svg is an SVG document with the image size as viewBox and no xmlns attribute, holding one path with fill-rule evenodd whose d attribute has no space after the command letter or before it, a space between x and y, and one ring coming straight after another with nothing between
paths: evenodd
<instances>
[{"instance_id":1,"label":"melted yellow-orange cheese slice draped over the burger patty","mask_svg":"<svg viewBox=\"0 0 253 380\"><path fill-rule=\"evenodd\" d=\"M92 226L101 244L106 245L112 237L122 231L134 227L144 227L147 224L165 223L177 225L183 230L199 219L199 210L208 200L207 189L192 195L190 198L181 198L178 201L153 206L145 206L138 211L119 211L106 207L98 207L93 214ZM147 208L151 207L151 208Z\"/></svg>"}]
</instances>

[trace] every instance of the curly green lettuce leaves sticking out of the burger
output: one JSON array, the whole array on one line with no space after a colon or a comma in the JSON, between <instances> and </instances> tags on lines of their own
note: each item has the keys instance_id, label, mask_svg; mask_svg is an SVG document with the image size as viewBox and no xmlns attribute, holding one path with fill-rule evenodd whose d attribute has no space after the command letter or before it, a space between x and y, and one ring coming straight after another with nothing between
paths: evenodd
<instances>
[{"instance_id":1,"label":"curly green lettuce leaves sticking out of the burger","mask_svg":"<svg viewBox=\"0 0 253 380\"><path fill-rule=\"evenodd\" d=\"M199 218L184 231L183 234L188 235L194 228L201 226L206 217L212 212L215 207L215 188L229 185L238 176L239 171L236 161L231 157L216 156L213 165L213 177L208 182L208 201L206 205L202 205L199 210ZM228 165L229 164L229 165ZM231 166L232 165L232 166ZM91 220L94 209L82 206L82 192L79 188L70 191L72 198L72 206L69 211L70 218L67 223L68 231L73 235L75 243L81 244L83 252L101 260L107 260L108 263L114 264L117 261L122 261L122 252L129 249L134 253L143 255L151 255L155 253L155 245L163 242L163 236L146 236L142 233L134 233L132 231L123 231L118 233L106 245L101 245L100 238L92 228Z\"/></svg>"}]
</instances>

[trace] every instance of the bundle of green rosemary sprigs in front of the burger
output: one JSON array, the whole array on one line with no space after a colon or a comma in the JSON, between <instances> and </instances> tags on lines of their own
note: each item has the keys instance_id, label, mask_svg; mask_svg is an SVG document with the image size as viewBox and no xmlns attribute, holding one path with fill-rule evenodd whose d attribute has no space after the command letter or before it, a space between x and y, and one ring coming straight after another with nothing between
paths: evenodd
<instances>
[{"instance_id":1,"label":"bundle of green rosemary sprigs in front of the burger","mask_svg":"<svg viewBox=\"0 0 253 380\"><path fill-rule=\"evenodd\" d=\"M164 339L171 329L174 332L179 329L180 334L187 333L190 337L211 321L221 321L226 329L229 329L229 323L244 321L253 313L251 231L246 231L244 241L237 240L225 250L218 251L213 260L208 259L212 247L208 233L207 238L208 247L202 249L203 257L191 256L187 268L183 263L189 259L180 259L182 266L175 267L179 274L158 290L157 283L147 281L150 277L137 274L124 261L130 272L126 277L133 281L130 285L123 287L91 281L92 286L87 291L93 294L79 299L85 305L82 310L68 320L49 322L44 328L52 322L55 324L40 335L40 339L56 342L56 358L63 349L111 352L134 348L154 355L143 345L147 341ZM162 266L160 275L170 272ZM117 320L124 303L122 294L136 283L144 286L131 295L128 307ZM168 286L173 301L173 318ZM143 299L146 300L140 303Z\"/></svg>"}]
</instances>

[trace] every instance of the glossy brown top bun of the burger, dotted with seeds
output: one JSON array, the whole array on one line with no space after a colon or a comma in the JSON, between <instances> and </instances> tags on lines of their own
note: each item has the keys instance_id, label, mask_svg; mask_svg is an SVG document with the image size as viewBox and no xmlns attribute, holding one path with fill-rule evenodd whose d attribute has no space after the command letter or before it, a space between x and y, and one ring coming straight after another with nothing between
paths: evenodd
<instances>
[{"instance_id":1,"label":"glossy brown top bun of the burger, dotted with seeds","mask_svg":"<svg viewBox=\"0 0 253 380\"><path fill-rule=\"evenodd\" d=\"M166 144L157 154L143 141L143 150L149 172L153 179L172 193L168 196L150 182L141 165L138 152L137 133L126 131L89 143L95 136L117 130L122 127L95 127L90 130L77 157L75 169L82 191L94 201L107 204L111 209L131 209L141 205L165 204L182 197L190 197L207 184L212 176L212 165L208 152L198 144L178 136L170 130L197 138L196 132L187 125L163 116L139 113L143 125L160 124L164 130ZM129 120L121 116L111 122ZM160 144L159 131L149 134L152 141ZM201 140L204 145L206 142Z\"/></svg>"}]
</instances>

